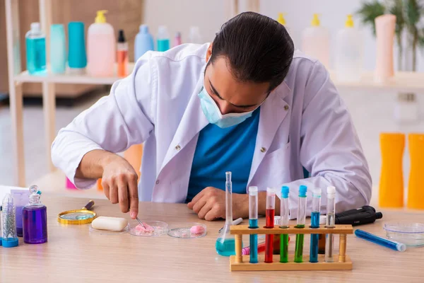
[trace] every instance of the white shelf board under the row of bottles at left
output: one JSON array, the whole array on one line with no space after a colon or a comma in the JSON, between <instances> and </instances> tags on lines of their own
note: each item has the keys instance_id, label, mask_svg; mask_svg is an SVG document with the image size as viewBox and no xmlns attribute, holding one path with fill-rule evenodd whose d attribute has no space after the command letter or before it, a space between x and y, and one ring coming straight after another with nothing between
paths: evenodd
<instances>
[{"instance_id":1,"label":"white shelf board under the row of bottles at left","mask_svg":"<svg viewBox=\"0 0 424 283\"><path fill-rule=\"evenodd\" d=\"M128 64L129 74L134 69L134 63ZM115 68L116 74L116 68ZM112 84L122 79L119 76L98 77L88 74L51 74L47 72L42 75L30 75L28 71L15 76L18 83L83 83L83 84Z\"/></svg>"}]
</instances>

